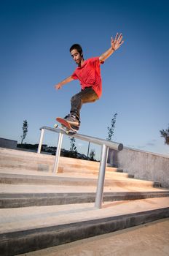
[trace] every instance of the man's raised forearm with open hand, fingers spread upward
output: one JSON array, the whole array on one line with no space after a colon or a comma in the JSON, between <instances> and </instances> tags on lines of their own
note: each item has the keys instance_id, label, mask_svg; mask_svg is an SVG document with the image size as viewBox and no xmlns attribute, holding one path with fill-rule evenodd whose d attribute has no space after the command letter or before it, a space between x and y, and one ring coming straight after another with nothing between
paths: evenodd
<instances>
[{"instance_id":1,"label":"man's raised forearm with open hand, fingers spread upward","mask_svg":"<svg viewBox=\"0 0 169 256\"><path fill-rule=\"evenodd\" d=\"M106 50L105 53L101 54L101 56L99 57L99 61L102 62L109 58L109 56L111 56L111 54L114 53L114 51L117 50L123 44L123 42L124 41L122 41L122 34L117 33L115 39L111 37L111 48Z\"/></svg>"}]
</instances>

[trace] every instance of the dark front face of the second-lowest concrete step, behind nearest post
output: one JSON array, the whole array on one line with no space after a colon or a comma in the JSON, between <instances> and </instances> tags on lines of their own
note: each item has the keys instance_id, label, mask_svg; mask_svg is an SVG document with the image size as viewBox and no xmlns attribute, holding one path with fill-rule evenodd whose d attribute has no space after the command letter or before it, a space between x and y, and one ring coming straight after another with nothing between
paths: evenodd
<instances>
[{"instance_id":1,"label":"dark front face of the second-lowest concrete step, behind nearest post","mask_svg":"<svg viewBox=\"0 0 169 256\"><path fill-rule=\"evenodd\" d=\"M154 197L169 197L164 192L104 192L103 201L138 200ZM28 206L55 206L73 203L93 203L95 193L46 193L46 194L1 194L0 208L19 208Z\"/></svg>"}]
</instances>

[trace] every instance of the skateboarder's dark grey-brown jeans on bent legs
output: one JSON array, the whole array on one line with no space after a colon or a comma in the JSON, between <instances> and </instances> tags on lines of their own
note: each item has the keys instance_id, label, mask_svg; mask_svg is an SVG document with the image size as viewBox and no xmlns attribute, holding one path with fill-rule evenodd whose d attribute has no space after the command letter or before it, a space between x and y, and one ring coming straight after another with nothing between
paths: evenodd
<instances>
[{"instance_id":1,"label":"skateboarder's dark grey-brown jeans on bent legs","mask_svg":"<svg viewBox=\"0 0 169 256\"><path fill-rule=\"evenodd\" d=\"M71 114L80 118L80 109L84 103L95 102L98 99L98 95L92 89L92 87L87 87L80 91L79 94L75 94L71 98Z\"/></svg>"}]
</instances>

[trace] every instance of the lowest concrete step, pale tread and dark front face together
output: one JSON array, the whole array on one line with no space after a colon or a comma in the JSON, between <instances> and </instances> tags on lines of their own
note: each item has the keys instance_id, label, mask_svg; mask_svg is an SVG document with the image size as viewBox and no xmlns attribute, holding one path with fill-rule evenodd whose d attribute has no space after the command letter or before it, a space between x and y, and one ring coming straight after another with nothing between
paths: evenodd
<instances>
[{"instance_id":1,"label":"lowest concrete step, pale tread and dark front face together","mask_svg":"<svg viewBox=\"0 0 169 256\"><path fill-rule=\"evenodd\" d=\"M0 209L1 255L18 255L169 217L169 197Z\"/></svg>"}]
</instances>

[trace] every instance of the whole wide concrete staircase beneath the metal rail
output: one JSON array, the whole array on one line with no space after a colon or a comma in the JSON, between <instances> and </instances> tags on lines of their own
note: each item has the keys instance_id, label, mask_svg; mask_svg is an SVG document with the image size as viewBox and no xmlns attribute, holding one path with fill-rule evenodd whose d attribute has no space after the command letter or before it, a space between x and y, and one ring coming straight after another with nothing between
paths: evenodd
<instances>
[{"instance_id":1,"label":"whole wide concrete staircase beneath the metal rail","mask_svg":"<svg viewBox=\"0 0 169 256\"><path fill-rule=\"evenodd\" d=\"M0 252L19 255L169 217L169 190L107 167L95 208L98 162L0 148Z\"/></svg>"}]
</instances>

